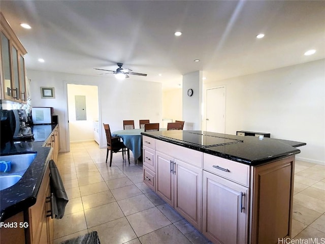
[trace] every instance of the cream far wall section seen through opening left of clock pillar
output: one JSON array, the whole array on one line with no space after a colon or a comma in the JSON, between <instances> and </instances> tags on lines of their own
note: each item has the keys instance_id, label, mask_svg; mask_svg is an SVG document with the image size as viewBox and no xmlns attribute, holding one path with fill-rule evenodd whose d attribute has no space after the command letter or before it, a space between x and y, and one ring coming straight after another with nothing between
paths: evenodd
<instances>
[{"instance_id":1,"label":"cream far wall section seen through opening left of clock pillar","mask_svg":"<svg viewBox=\"0 0 325 244\"><path fill-rule=\"evenodd\" d=\"M163 118L182 120L183 101L182 88L168 89L163 91Z\"/></svg>"}]
</instances>

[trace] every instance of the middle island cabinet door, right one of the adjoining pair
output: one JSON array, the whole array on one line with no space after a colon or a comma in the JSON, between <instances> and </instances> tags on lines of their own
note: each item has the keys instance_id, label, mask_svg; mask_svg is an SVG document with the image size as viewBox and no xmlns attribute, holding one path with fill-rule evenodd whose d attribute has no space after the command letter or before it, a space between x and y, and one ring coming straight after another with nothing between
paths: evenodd
<instances>
[{"instance_id":1,"label":"middle island cabinet door, right one of the adjoining pair","mask_svg":"<svg viewBox=\"0 0 325 244\"><path fill-rule=\"evenodd\" d=\"M174 161L175 209L201 231L203 170L177 159Z\"/></svg>"}]
</instances>

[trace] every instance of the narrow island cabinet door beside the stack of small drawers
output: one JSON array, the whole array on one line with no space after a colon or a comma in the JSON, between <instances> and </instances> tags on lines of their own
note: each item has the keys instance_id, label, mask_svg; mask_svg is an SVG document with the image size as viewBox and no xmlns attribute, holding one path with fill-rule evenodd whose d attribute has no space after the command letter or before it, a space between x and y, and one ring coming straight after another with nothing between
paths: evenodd
<instances>
[{"instance_id":1,"label":"narrow island cabinet door beside the stack of small drawers","mask_svg":"<svg viewBox=\"0 0 325 244\"><path fill-rule=\"evenodd\" d=\"M156 193L174 207L172 162L172 157L156 151Z\"/></svg>"}]
</instances>

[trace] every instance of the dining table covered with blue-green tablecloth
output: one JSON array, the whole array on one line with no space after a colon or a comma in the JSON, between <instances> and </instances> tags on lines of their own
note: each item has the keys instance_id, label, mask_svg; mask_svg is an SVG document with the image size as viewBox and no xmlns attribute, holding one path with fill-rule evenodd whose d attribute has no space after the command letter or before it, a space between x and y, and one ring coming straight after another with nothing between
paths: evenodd
<instances>
[{"instance_id":1,"label":"dining table covered with blue-green tablecloth","mask_svg":"<svg viewBox=\"0 0 325 244\"><path fill-rule=\"evenodd\" d=\"M159 130L163 131L166 130L166 128L159 128ZM144 132L144 129L120 130L112 132L112 136L122 138L124 145L132 151L135 161L140 159L142 156L141 132Z\"/></svg>"}]
</instances>

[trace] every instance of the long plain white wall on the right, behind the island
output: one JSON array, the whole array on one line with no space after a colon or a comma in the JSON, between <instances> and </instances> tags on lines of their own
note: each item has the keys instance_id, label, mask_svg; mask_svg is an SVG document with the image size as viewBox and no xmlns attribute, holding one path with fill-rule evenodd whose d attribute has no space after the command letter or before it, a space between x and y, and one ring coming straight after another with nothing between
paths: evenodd
<instances>
[{"instance_id":1,"label":"long plain white wall on the right, behind the island","mask_svg":"<svg viewBox=\"0 0 325 244\"><path fill-rule=\"evenodd\" d=\"M271 133L306 142L297 159L325 164L325 59L215 81L226 86L227 134Z\"/></svg>"}]
</instances>

